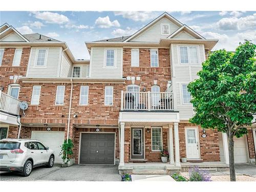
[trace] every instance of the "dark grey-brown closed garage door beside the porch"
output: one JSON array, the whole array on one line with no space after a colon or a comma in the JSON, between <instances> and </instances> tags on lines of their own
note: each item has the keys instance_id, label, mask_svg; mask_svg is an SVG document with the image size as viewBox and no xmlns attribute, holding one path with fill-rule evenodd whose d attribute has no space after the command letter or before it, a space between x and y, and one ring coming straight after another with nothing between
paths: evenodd
<instances>
[{"instance_id":1,"label":"dark grey-brown closed garage door beside the porch","mask_svg":"<svg viewBox=\"0 0 256 192\"><path fill-rule=\"evenodd\" d=\"M115 164L115 134L82 133L80 164Z\"/></svg>"}]
</instances>

